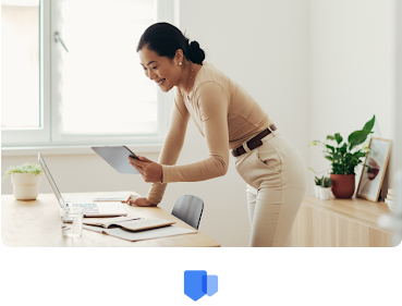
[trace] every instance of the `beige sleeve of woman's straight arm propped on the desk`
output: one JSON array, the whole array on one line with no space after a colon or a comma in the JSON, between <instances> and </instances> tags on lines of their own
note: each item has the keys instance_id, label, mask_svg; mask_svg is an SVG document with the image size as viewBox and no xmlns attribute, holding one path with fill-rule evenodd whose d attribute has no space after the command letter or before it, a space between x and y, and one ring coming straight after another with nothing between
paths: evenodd
<instances>
[{"instance_id":1,"label":"beige sleeve of woman's straight arm propped on the desk","mask_svg":"<svg viewBox=\"0 0 402 306\"><path fill-rule=\"evenodd\" d=\"M165 138L158 163L175 164L182 150L185 132L190 120L190 113L185 108L183 98L175 88L174 105L172 108L168 135ZM163 174L165 175L165 174ZM159 204L163 197L167 184L153 183L147 194L147 199L153 204Z\"/></svg>"}]
</instances>

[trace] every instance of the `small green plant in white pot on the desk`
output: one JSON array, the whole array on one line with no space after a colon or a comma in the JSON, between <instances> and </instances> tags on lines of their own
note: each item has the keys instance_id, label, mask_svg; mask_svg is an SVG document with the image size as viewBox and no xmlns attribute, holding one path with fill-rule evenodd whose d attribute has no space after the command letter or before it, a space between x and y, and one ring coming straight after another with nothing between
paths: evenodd
<instances>
[{"instance_id":1,"label":"small green plant in white pot on the desk","mask_svg":"<svg viewBox=\"0 0 402 306\"><path fill-rule=\"evenodd\" d=\"M39 195L40 174L42 173L40 164L26 162L17 167L9 167L2 179L11 175L13 184L13 195L16 199L36 199Z\"/></svg>"}]
</instances>

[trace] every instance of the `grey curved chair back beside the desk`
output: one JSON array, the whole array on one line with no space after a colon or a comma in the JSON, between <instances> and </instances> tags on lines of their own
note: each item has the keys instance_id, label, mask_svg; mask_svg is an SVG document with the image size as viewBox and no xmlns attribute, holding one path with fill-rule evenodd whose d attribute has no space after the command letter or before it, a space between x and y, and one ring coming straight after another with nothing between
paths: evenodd
<instances>
[{"instance_id":1,"label":"grey curved chair back beside the desk","mask_svg":"<svg viewBox=\"0 0 402 306\"><path fill-rule=\"evenodd\" d=\"M172 215L198 230L204 201L196 196L183 195L175 203Z\"/></svg>"}]
</instances>

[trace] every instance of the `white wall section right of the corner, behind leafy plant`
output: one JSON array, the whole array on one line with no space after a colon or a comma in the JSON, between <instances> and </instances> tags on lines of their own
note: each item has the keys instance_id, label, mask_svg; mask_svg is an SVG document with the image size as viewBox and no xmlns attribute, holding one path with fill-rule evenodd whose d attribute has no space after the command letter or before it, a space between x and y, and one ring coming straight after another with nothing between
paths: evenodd
<instances>
[{"instance_id":1,"label":"white wall section right of the corner, behind leafy plant","mask_svg":"<svg viewBox=\"0 0 402 306\"><path fill-rule=\"evenodd\" d=\"M373 136L394 139L394 0L310 0L312 139L348 139L374 114ZM316 171L330 168L321 156L310 148Z\"/></svg>"}]
</instances>

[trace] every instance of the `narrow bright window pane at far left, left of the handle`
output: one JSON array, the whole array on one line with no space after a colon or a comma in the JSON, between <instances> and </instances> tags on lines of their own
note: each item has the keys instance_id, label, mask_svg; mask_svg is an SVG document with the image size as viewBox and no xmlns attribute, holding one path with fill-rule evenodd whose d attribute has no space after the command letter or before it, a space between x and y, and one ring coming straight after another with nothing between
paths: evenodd
<instances>
[{"instance_id":1,"label":"narrow bright window pane at far left, left of the handle","mask_svg":"<svg viewBox=\"0 0 402 306\"><path fill-rule=\"evenodd\" d=\"M39 120L39 0L1 0L1 127Z\"/></svg>"}]
</instances>

